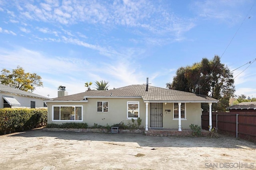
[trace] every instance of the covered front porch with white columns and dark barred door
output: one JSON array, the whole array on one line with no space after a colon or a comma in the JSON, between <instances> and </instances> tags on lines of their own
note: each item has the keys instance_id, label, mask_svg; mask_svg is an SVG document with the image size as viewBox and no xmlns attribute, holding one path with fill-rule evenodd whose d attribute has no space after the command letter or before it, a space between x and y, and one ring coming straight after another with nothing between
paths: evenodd
<instances>
[{"instance_id":1,"label":"covered front porch with white columns and dark barred door","mask_svg":"<svg viewBox=\"0 0 256 170\"><path fill-rule=\"evenodd\" d=\"M178 102L166 101L148 102L146 104L145 134L157 134L156 136L190 136L190 125L201 124L201 102ZM212 102L209 102L209 130L212 129ZM163 118L164 117L164 118ZM177 123L178 121L178 123ZM177 129L176 129L177 127ZM183 129L183 128L184 129ZM158 128L166 128L167 131ZM148 132L150 131L150 132ZM178 133L184 131L184 133ZM148 132L148 133L147 133Z\"/></svg>"}]
</instances>

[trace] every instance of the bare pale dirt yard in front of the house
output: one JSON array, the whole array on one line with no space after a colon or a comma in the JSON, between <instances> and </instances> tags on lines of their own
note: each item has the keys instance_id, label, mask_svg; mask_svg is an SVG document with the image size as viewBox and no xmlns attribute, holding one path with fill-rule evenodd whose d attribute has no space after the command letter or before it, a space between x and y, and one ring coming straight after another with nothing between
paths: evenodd
<instances>
[{"instance_id":1,"label":"bare pale dirt yard in front of the house","mask_svg":"<svg viewBox=\"0 0 256 170\"><path fill-rule=\"evenodd\" d=\"M0 169L256 169L256 145L231 137L48 132L0 136Z\"/></svg>"}]
</instances>

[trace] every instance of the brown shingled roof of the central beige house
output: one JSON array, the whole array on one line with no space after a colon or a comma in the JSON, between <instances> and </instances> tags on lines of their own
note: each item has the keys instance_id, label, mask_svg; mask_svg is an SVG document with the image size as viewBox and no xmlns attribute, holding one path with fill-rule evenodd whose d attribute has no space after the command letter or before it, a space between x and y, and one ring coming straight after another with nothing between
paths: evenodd
<instances>
[{"instance_id":1,"label":"brown shingled roof of the central beige house","mask_svg":"<svg viewBox=\"0 0 256 170\"><path fill-rule=\"evenodd\" d=\"M90 98L142 98L149 102L218 102L209 96L146 85L130 85L106 91L88 91L51 99L52 101L81 101Z\"/></svg>"}]
</instances>

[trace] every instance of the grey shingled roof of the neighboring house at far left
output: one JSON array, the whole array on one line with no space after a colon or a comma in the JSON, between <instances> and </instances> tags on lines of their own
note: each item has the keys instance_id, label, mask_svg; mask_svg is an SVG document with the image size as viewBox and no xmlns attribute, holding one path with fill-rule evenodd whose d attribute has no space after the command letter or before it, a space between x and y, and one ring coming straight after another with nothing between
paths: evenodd
<instances>
[{"instance_id":1,"label":"grey shingled roof of the neighboring house at far left","mask_svg":"<svg viewBox=\"0 0 256 170\"><path fill-rule=\"evenodd\" d=\"M48 98L46 98L44 96L41 96L41 95L38 95L38 94L34 94L34 93L31 93L31 92L25 92L23 90L12 88L12 87L6 86L4 84L0 84L0 92L18 94L20 96L28 96L28 97L33 97L33 98L48 99Z\"/></svg>"}]
</instances>

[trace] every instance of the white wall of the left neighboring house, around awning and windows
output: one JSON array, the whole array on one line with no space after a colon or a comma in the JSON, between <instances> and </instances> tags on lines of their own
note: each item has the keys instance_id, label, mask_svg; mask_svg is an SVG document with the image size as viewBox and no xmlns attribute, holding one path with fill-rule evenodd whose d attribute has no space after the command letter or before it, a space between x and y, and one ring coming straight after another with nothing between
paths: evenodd
<instances>
[{"instance_id":1,"label":"white wall of the left neighboring house, around awning and windows","mask_svg":"<svg viewBox=\"0 0 256 170\"><path fill-rule=\"evenodd\" d=\"M14 97L20 103L20 107L30 108L31 101L36 102L36 108L44 107L43 99L33 98L33 97L28 97L28 96L20 96L20 95L16 95L16 94L12 94L12 93L7 93L7 92L0 92L0 108L4 108L4 99L2 98L2 96ZM12 108L20 108L20 107L12 106Z\"/></svg>"}]
</instances>

